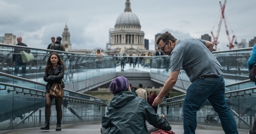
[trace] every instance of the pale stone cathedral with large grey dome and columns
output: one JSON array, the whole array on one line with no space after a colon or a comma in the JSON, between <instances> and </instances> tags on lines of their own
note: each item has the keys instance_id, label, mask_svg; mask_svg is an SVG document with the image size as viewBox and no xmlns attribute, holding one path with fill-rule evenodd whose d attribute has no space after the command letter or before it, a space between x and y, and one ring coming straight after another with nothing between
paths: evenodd
<instances>
[{"instance_id":1,"label":"pale stone cathedral with large grey dome and columns","mask_svg":"<svg viewBox=\"0 0 256 134\"><path fill-rule=\"evenodd\" d=\"M132 12L130 0L126 0L124 12L118 16L110 36L111 49L145 49L144 32L138 17Z\"/></svg>"}]
</instances>

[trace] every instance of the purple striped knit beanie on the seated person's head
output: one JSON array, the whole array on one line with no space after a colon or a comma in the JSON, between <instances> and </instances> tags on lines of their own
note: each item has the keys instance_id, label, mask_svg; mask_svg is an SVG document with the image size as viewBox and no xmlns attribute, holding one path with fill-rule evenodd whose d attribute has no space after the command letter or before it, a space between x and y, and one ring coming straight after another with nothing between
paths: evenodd
<instances>
[{"instance_id":1,"label":"purple striped knit beanie on the seated person's head","mask_svg":"<svg viewBox=\"0 0 256 134\"><path fill-rule=\"evenodd\" d=\"M121 91L127 91L129 88L128 79L123 76L117 77L110 83L109 88L113 94L117 94Z\"/></svg>"}]
</instances>

